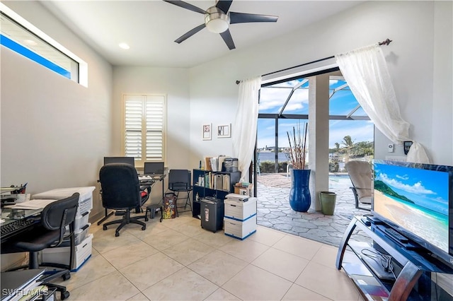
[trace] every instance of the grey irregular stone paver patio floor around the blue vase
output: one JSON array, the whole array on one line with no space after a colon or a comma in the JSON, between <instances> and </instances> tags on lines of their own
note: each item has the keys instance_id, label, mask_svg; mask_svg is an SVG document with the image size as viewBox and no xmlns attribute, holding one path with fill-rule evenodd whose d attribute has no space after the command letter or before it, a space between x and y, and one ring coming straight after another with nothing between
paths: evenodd
<instances>
[{"instance_id":1,"label":"grey irregular stone paver patio floor around the blue vase","mask_svg":"<svg viewBox=\"0 0 453 301\"><path fill-rule=\"evenodd\" d=\"M352 216L369 214L369 211L355 208L348 177L330 178L329 191L337 194L333 216L312 209L308 212L293 211L288 201L291 180L286 174L261 174L257 182L257 223L268 228L338 246ZM371 242L358 230L351 240Z\"/></svg>"}]
</instances>

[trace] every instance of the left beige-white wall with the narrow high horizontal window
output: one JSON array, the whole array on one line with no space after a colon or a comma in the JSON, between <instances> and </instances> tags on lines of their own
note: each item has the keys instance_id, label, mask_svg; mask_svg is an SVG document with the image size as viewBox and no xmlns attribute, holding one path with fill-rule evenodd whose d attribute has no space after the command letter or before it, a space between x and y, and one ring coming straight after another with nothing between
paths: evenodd
<instances>
[{"instance_id":1,"label":"left beige-white wall with the narrow high horizontal window","mask_svg":"<svg viewBox=\"0 0 453 301\"><path fill-rule=\"evenodd\" d=\"M1 186L96 186L112 145L112 67L38 1L3 3L86 61L88 88L1 47Z\"/></svg>"}]
</instances>

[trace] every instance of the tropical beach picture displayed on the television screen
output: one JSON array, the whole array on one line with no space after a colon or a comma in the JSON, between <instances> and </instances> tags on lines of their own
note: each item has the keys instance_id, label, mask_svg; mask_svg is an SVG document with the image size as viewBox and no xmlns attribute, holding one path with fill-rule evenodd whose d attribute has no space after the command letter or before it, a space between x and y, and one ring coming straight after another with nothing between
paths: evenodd
<instances>
[{"instance_id":1,"label":"tropical beach picture displayed on the television screen","mask_svg":"<svg viewBox=\"0 0 453 301\"><path fill-rule=\"evenodd\" d=\"M448 252L449 175L374 164L374 211Z\"/></svg>"}]
</instances>

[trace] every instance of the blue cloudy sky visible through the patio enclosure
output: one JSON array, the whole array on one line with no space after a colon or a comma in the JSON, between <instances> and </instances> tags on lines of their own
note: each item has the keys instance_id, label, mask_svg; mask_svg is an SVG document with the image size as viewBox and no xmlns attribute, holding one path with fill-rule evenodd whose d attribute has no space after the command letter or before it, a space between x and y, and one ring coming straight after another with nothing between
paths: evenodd
<instances>
[{"instance_id":1,"label":"blue cloudy sky visible through the patio enclosure","mask_svg":"<svg viewBox=\"0 0 453 301\"><path fill-rule=\"evenodd\" d=\"M287 83L280 83L273 85L273 88L261 88L260 91L260 113L277 113L280 112L282 105L287 100L291 89L287 87L294 87L299 85L303 80L289 81ZM330 94L333 89L345 85L345 81L331 80ZM286 87L286 88L285 88ZM287 107L285 108L286 114L308 114L308 82L301 85L294 91L290 98ZM333 93L330 100L329 112L331 115L346 115L349 114L358 103L348 88L338 90ZM362 108L357 110L357 116L365 116ZM304 120L301 120L301 128L303 127ZM289 146L287 131L292 131L292 127L297 126L297 120L294 119L280 119L279 122L279 147ZM352 141L355 143L360 141L373 141L374 140L374 124L371 121L349 121L349 120L331 120L329 126L329 148L335 148L335 143L342 142L343 137L351 136ZM265 146L275 146L275 120L274 119L258 119L258 148Z\"/></svg>"}]
</instances>

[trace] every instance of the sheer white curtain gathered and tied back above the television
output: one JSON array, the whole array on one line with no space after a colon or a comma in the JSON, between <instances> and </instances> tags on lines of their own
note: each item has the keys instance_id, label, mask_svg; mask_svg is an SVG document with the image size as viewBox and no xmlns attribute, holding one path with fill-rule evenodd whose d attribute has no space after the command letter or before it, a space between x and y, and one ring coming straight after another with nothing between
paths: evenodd
<instances>
[{"instance_id":1,"label":"sheer white curtain gathered and tied back above the television","mask_svg":"<svg viewBox=\"0 0 453 301\"><path fill-rule=\"evenodd\" d=\"M379 44L336 55L352 94L379 131L396 144L412 141L408 122L401 118L384 54ZM408 162L430 163L423 146L413 141Z\"/></svg>"}]
</instances>

